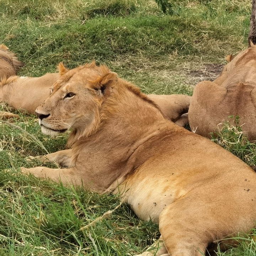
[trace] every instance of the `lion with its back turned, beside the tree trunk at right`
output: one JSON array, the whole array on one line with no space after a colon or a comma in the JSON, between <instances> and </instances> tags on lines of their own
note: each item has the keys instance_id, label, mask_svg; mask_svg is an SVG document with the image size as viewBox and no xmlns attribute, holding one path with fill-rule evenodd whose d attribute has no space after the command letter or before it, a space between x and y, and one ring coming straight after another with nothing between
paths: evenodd
<instances>
[{"instance_id":1,"label":"lion with its back turned, beside the tree trunk at right","mask_svg":"<svg viewBox=\"0 0 256 256\"><path fill-rule=\"evenodd\" d=\"M231 58L229 58L231 60ZM210 137L233 115L249 140L256 140L256 46L240 52L224 67L222 74L196 85L189 109L191 130Z\"/></svg>"}]
</instances>

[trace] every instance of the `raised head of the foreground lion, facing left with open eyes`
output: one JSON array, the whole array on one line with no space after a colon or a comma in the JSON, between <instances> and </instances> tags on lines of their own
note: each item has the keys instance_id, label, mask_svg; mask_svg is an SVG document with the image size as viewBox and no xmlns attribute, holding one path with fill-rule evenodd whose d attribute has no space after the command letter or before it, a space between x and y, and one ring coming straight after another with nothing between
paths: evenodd
<instances>
[{"instance_id":1,"label":"raised head of the foreground lion, facing left with open eyes","mask_svg":"<svg viewBox=\"0 0 256 256\"><path fill-rule=\"evenodd\" d=\"M73 137L88 136L100 124L100 107L117 74L95 62L68 70L59 64L60 78L52 94L36 109L42 132L56 135L73 129Z\"/></svg>"}]
</instances>

